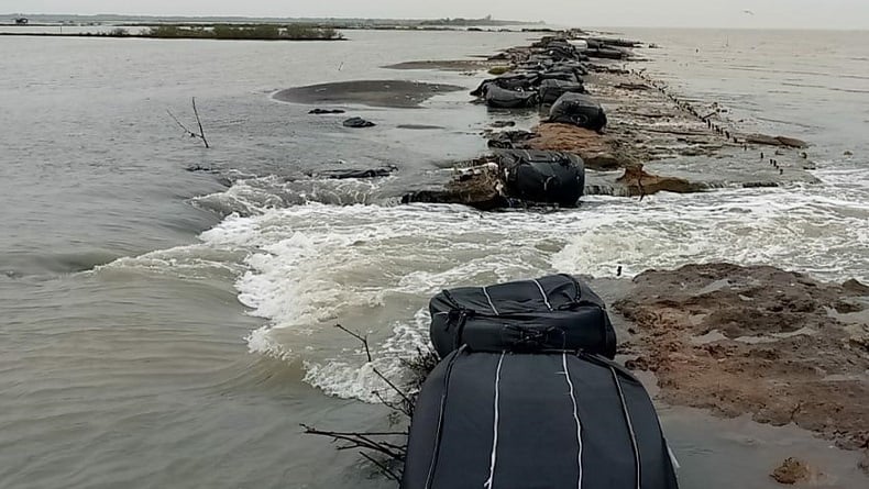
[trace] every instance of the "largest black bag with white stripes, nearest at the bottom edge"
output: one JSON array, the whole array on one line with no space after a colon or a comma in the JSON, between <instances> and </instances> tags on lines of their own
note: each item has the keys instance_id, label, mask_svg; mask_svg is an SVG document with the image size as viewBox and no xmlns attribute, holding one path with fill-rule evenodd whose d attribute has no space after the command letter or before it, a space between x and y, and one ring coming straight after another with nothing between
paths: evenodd
<instances>
[{"instance_id":1,"label":"largest black bag with white stripes, nearest at the bottom edge","mask_svg":"<svg viewBox=\"0 0 869 489\"><path fill-rule=\"evenodd\" d=\"M454 352L416 401L402 489L678 489L642 385L604 358Z\"/></svg>"}]
</instances>

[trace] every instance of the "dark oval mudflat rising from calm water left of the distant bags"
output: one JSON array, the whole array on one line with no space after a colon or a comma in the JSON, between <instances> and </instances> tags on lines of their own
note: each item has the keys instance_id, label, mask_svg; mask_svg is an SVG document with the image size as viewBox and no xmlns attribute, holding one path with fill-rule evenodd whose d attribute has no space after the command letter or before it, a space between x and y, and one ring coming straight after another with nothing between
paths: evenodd
<instances>
[{"instance_id":1,"label":"dark oval mudflat rising from calm water left of the distant bags","mask_svg":"<svg viewBox=\"0 0 869 489\"><path fill-rule=\"evenodd\" d=\"M275 100L309 104L362 104L397 109L417 109L420 103L440 95L463 90L443 84L407 80L358 80L311 85L280 90Z\"/></svg>"}]
</instances>

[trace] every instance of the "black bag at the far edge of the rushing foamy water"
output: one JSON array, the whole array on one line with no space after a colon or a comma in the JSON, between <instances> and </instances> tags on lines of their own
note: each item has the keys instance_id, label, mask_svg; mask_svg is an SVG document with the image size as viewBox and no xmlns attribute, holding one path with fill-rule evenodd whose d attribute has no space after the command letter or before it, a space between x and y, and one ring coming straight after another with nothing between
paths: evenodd
<instances>
[{"instance_id":1,"label":"black bag at the far edge of the rushing foamy water","mask_svg":"<svg viewBox=\"0 0 869 489\"><path fill-rule=\"evenodd\" d=\"M583 195L585 165L574 154L522 149L497 156L507 197L574 207Z\"/></svg>"}]
</instances>

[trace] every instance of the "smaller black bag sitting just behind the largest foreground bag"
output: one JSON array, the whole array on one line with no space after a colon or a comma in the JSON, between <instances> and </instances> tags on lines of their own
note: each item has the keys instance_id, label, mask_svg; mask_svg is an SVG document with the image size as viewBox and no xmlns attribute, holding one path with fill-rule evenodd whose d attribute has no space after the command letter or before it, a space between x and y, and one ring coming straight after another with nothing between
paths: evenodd
<instances>
[{"instance_id":1,"label":"smaller black bag sitting just behind the largest foreground bag","mask_svg":"<svg viewBox=\"0 0 869 489\"><path fill-rule=\"evenodd\" d=\"M616 354L604 301L570 275L444 290L429 302L431 342L441 358L473 352L583 349Z\"/></svg>"}]
</instances>

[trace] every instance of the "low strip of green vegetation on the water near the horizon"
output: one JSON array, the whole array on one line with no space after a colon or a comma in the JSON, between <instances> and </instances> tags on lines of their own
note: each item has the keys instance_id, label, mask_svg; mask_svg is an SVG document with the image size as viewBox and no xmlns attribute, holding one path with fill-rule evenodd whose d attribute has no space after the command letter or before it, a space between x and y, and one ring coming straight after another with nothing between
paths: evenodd
<instances>
[{"instance_id":1,"label":"low strip of green vegetation on the water near the horizon","mask_svg":"<svg viewBox=\"0 0 869 489\"><path fill-rule=\"evenodd\" d=\"M307 24L216 24L210 26L164 24L151 27L144 35L157 38L249 41L337 41L343 38L343 35L334 29Z\"/></svg>"}]
</instances>

